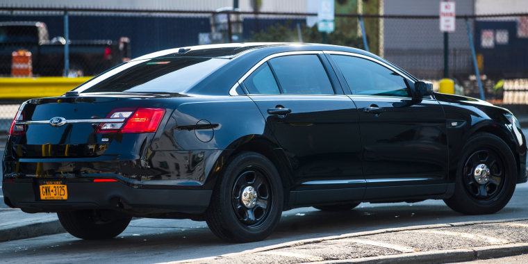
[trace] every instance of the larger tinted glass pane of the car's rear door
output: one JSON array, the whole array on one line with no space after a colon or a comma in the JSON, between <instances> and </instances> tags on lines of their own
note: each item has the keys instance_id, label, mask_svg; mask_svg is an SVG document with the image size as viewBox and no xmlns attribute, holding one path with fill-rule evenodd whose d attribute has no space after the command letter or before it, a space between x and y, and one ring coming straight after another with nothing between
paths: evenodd
<instances>
[{"instance_id":1,"label":"larger tinted glass pane of the car's rear door","mask_svg":"<svg viewBox=\"0 0 528 264\"><path fill-rule=\"evenodd\" d=\"M335 94L317 55L293 55L269 61L283 94Z\"/></svg>"}]
</instances>

